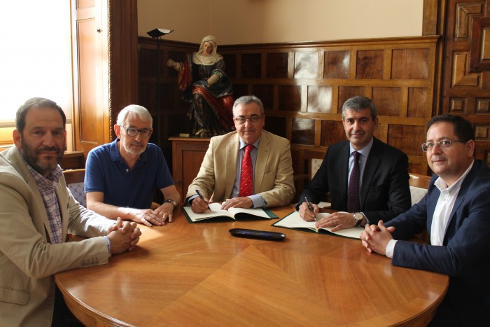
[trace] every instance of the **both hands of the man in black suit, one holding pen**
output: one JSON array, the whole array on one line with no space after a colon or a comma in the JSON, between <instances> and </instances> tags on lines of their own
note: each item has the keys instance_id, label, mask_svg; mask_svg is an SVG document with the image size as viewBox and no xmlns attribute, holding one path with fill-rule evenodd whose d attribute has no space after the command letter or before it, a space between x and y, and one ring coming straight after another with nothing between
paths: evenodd
<instances>
[{"instance_id":1,"label":"both hands of the man in black suit, one holding pen","mask_svg":"<svg viewBox=\"0 0 490 327\"><path fill-rule=\"evenodd\" d=\"M320 208L318 205L311 203L311 208L313 208L313 212L308 208L306 202L303 202L298 209L300 217L304 221L315 221L315 216L320 212ZM319 221L316 221L316 228L332 228L332 231L342 230L344 228L351 228L356 225L356 219L353 218L353 214L349 212L334 212L324 218L321 218Z\"/></svg>"}]
</instances>

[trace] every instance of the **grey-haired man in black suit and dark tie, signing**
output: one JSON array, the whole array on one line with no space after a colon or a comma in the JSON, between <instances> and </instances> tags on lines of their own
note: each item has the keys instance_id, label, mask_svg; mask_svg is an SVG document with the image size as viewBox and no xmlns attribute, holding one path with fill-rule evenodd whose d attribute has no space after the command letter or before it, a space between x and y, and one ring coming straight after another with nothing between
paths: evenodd
<instances>
[{"instance_id":1,"label":"grey-haired man in black suit and dark tie, signing","mask_svg":"<svg viewBox=\"0 0 490 327\"><path fill-rule=\"evenodd\" d=\"M407 155L372 136L377 123L377 109L371 99L352 97L344 103L342 124L349 140L328 147L321 167L302 191L296 208L305 221L314 220L319 211L316 204L328 192L332 209L347 212L323 218L316 223L318 228L340 230L377 223L409 209ZM358 176L357 188L352 188L353 175Z\"/></svg>"}]
</instances>

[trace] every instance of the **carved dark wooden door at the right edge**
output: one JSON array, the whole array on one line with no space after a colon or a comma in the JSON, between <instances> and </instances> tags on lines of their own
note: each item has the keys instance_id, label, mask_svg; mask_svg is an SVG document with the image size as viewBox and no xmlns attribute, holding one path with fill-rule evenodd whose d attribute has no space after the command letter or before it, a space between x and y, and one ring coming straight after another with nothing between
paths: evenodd
<instances>
[{"instance_id":1,"label":"carved dark wooden door at the right edge","mask_svg":"<svg viewBox=\"0 0 490 327\"><path fill-rule=\"evenodd\" d=\"M470 120L490 164L490 0L448 1L442 92L442 113Z\"/></svg>"}]
</instances>

